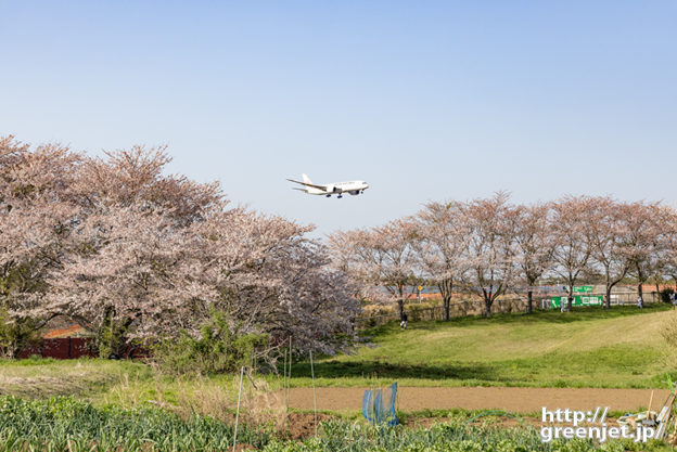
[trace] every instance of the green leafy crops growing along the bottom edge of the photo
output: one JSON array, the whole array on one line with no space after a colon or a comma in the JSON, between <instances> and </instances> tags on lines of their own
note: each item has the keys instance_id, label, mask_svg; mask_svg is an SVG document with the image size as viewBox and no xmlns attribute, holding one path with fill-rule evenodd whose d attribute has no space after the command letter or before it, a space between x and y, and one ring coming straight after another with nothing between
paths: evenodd
<instances>
[{"instance_id":1,"label":"green leafy crops growing along the bottom edge of the photo","mask_svg":"<svg viewBox=\"0 0 677 452\"><path fill-rule=\"evenodd\" d=\"M461 419L429 428L322 424L318 438L293 441L265 428L240 426L241 443L265 452L526 452L672 450L663 443L571 440L542 443L532 427L468 426ZM183 419L162 409L94 408L72 398L0 397L0 452L179 452L232 450L233 428L209 417Z\"/></svg>"}]
</instances>

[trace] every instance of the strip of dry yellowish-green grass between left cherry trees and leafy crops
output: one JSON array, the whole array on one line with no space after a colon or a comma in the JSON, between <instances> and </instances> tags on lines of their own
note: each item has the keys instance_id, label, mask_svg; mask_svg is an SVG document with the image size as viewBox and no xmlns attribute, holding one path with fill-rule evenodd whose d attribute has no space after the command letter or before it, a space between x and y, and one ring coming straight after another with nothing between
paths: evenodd
<instances>
[{"instance_id":1,"label":"strip of dry yellowish-green grass between left cherry trees and leafy crops","mask_svg":"<svg viewBox=\"0 0 677 452\"><path fill-rule=\"evenodd\" d=\"M149 365L111 360L0 360L0 393L25 398L74 396L94 405L161 406L183 418L194 414L232 419L240 375L174 377ZM254 386L255 385L255 386ZM241 415L256 424L284 423L284 399L269 378L244 378Z\"/></svg>"}]
</instances>

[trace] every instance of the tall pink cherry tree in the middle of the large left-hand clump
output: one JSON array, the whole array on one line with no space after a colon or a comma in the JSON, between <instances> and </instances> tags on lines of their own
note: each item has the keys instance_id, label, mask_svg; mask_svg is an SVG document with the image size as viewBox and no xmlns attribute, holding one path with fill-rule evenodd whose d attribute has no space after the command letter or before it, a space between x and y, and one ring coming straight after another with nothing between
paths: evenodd
<instances>
[{"instance_id":1,"label":"tall pink cherry tree in the middle of the large left-hand clump","mask_svg":"<svg viewBox=\"0 0 677 452\"><path fill-rule=\"evenodd\" d=\"M118 354L132 325L142 335L151 318L162 317L158 299L179 297L183 285L173 277L187 262L187 228L227 203L216 184L164 176L170 162L164 147L106 156L82 158L74 172L79 210L68 254L51 271L49 304L33 313L68 315L97 332L101 346L114 331L119 340L108 346Z\"/></svg>"}]
</instances>

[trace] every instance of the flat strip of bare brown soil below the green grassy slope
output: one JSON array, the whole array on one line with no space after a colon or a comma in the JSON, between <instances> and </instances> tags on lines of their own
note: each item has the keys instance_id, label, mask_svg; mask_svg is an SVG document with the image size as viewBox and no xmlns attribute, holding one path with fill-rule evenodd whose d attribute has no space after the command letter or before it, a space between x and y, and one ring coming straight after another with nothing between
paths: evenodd
<instances>
[{"instance_id":1,"label":"flat strip of bare brown soil below the green grassy slope","mask_svg":"<svg viewBox=\"0 0 677 452\"><path fill-rule=\"evenodd\" d=\"M318 388L318 410L359 411L366 388ZM666 389L654 390L652 409L662 405L668 396ZM636 411L647 408L651 389L593 388L414 388L400 387L397 408L403 411L501 409L511 412L540 412L548 409L595 410L609 406L611 411ZM290 406L312 410L312 388L292 388Z\"/></svg>"}]
</instances>

